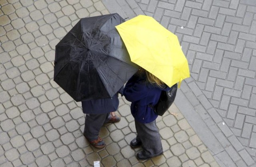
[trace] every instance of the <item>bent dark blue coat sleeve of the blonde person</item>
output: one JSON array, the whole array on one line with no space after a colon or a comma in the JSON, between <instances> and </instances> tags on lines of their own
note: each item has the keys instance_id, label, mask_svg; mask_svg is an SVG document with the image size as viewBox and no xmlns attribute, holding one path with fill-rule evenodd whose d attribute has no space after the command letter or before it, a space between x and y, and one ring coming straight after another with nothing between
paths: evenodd
<instances>
[{"instance_id":1,"label":"bent dark blue coat sleeve of the blonde person","mask_svg":"<svg viewBox=\"0 0 256 167\"><path fill-rule=\"evenodd\" d=\"M124 87L124 97L130 102L145 98L147 92L148 89L146 83L134 76L130 78Z\"/></svg>"}]
</instances>

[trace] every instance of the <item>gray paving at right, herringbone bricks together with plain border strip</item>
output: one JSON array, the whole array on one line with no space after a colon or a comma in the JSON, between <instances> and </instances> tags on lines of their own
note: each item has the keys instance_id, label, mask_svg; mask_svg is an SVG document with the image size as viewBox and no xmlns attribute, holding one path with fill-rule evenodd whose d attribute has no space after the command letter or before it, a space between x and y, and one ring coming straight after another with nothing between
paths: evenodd
<instances>
[{"instance_id":1,"label":"gray paving at right, herringbone bricks together with plain border strip","mask_svg":"<svg viewBox=\"0 0 256 167\"><path fill-rule=\"evenodd\" d=\"M153 16L178 36L192 77L179 96L190 104L177 107L221 166L255 166L256 1L102 2L129 18Z\"/></svg>"}]
</instances>

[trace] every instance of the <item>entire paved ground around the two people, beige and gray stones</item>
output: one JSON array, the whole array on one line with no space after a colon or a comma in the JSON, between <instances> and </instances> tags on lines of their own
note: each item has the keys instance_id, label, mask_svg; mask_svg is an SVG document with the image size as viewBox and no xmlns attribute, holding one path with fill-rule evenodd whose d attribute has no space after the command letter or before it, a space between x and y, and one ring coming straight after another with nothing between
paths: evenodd
<instances>
[{"instance_id":1,"label":"entire paved ground around the two people, beige and gray stones","mask_svg":"<svg viewBox=\"0 0 256 167\"><path fill-rule=\"evenodd\" d=\"M55 45L80 18L153 16L176 34L191 78L158 117L164 154L135 157L130 103L95 149L84 114L53 81ZM171 113L176 113L171 114ZM256 167L256 1L0 0L0 167Z\"/></svg>"}]
</instances>

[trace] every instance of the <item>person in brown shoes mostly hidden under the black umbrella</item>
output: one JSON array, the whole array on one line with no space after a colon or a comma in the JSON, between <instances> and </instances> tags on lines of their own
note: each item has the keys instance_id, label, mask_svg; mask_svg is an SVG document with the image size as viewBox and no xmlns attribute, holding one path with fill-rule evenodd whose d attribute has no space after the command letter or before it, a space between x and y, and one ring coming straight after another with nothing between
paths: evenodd
<instances>
[{"instance_id":1,"label":"person in brown shoes mostly hidden under the black umbrella","mask_svg":"<svg viewBox=\"0 0 256 167\"><path fill-rule=\"evenodd\" d=\"M120 121L120 115L114 112L118 105L118 93L108 99L82 101L83 113L86 114L83 134L93 147L102 149L106 146L99 137L100 128L104 123Z\"/></svg>"}]
</instances>

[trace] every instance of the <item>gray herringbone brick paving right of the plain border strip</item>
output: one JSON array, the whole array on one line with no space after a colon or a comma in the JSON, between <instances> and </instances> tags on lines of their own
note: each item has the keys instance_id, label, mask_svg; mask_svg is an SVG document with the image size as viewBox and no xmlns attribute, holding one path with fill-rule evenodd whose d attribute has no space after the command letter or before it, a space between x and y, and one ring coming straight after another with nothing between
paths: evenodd
<instances>
[{"instance_id":1,"label":"gray herringbone brick paving right of the plain border strip","mask_svg":"<svg viewBox=\"0 0 256 167\"><path fill-rule=\"evenodd\" d=\"M136 0L174 32L192 78L256 156L256 1Z\"/></svg>"}]
</instances>

